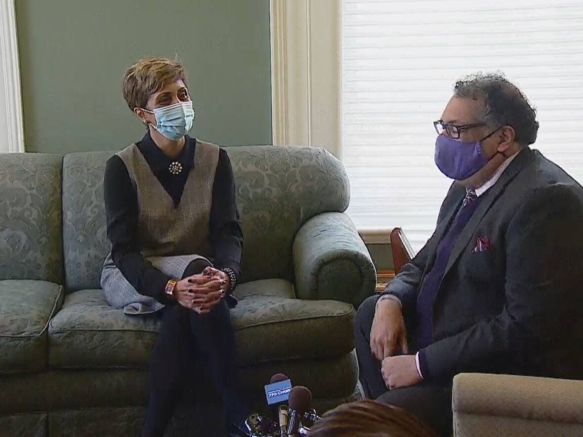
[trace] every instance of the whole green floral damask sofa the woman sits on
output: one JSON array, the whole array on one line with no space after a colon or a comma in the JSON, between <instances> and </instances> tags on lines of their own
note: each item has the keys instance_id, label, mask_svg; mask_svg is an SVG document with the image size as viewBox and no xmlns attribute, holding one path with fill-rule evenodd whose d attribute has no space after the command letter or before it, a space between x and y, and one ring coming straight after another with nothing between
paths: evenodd
<instances>
[{"instance_id":1,"label":"whole green floral damask sofa the woman sits on","mask_svg":"<svg viewBox=\"0 0 583 437\"><path fill-rule=\"evenodd\" d=\"M227 148L245 236L233 309L245 390L273 373L319 411L361 398L354 307L375 270L343 213L349 184L323 149ZM103 173L113 152L0 155L0 435L138 435L154 318L107 305ZM191 383L167 435L215 435L220 403ZM201 402L198 402L201 400Z\"/></svg>"}]
</instances>

